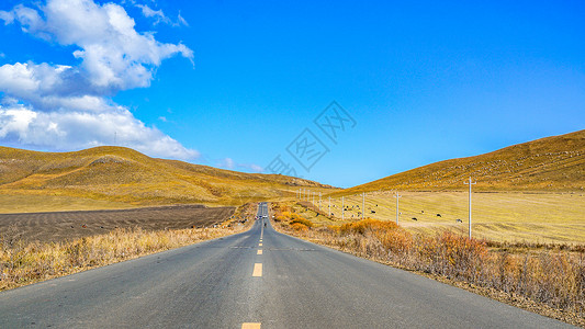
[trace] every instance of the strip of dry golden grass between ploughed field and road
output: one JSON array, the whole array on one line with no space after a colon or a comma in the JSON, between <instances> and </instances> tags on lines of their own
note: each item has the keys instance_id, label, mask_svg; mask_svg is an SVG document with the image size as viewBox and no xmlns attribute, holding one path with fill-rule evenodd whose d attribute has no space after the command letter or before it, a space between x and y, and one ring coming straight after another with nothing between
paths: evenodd
<instances>
[{"instance_id":1,"label":"strip of dry golden grass between ploughed field and road","mask_svg":"<svg viewBox=\"0 0 585 329\"><path fill-rule=\"evenodd\" d=\"M236 234L249 228L255 212L254 204L246 204L215 228L117 228L65 242L24 242L8 229L0 234L0 291ZM241 218L249 220L243 225Z\"/></svg>"}]
</instances>

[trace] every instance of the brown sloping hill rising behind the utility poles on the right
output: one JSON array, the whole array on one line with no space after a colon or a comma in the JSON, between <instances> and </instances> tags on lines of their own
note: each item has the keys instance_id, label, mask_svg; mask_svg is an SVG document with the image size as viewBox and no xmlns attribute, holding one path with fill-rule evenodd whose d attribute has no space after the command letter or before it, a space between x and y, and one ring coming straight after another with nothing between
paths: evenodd
<instances>
[{"instance_id":1,"label":"brown sloping hill rising behind the utility poles on the right","mask_svg":"<svg viewBox=\"0 0 585 329\"><path fill-rule=\"evenodd\" d=\"M379 190L583 191L585 131L514 145L490 154L440 161L334 194Z\"/></svg>"}]
</instances>

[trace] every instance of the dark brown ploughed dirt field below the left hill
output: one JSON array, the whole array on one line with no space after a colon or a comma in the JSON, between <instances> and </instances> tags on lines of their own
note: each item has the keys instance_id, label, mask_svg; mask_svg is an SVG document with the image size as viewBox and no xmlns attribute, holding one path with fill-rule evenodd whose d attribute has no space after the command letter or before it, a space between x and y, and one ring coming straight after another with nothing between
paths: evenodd
<instances>
[{"instance_id":1,"label":"dark brown ploughed dirt field below the left hill","mask_svg":"<svg viewBox=\"0 0 585 329\"><path fill-rule=\"evenodd\" d=\"M234 214L234 207L177 205L115 211L0 214L0 236L25 241L63 241L114 228L147 230L212 226Z\"/></svg>"}]
</instances>

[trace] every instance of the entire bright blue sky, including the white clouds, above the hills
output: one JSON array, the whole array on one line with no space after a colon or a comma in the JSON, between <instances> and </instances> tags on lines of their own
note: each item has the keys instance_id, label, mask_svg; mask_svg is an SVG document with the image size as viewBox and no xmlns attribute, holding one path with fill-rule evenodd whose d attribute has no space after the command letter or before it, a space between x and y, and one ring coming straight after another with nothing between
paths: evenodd
<instances>
[{"instance_id":1,"label":"entire bright blue sky, including the white clouds, above the hills","mask_svg":"<svg viewBox=\"0 0 585 329\"><path fill-rule=\"evenodd\" d=\"M0 144L351 186L585 128L585 2L508 2L2 1Z\"/></svg>"}]
</instances>

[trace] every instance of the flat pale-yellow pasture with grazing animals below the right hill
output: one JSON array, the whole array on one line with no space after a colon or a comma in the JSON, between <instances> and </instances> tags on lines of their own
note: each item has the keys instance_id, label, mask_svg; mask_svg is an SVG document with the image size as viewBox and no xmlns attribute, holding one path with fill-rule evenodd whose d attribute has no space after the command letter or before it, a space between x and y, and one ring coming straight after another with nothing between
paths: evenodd
<instances>
[{"instance_id":1,"label":"flat pale-yellow pasture with grazing animals below the right hill","mask_svg":"<svg viewBox=\"0 0 585 329\"><path fill-rule=\"evenodd\" d=\"M398 223L406 230L427 235L451 230L468 235L468 192L400 192L400 195ZM344 198L345 220L341 220L341 197L335 197L331 198L334 220L318 216L316 223L341 225L361 218L362 196L353 194ZM318 209L319 205L317 202L311 206ZM323 215L328 206L328 200L322 201ZM364 215L395 222L395 194L368 193ZM472 234L499 242L585 245L585 192L473 193Z\"/></svg>"}]
</instances>

